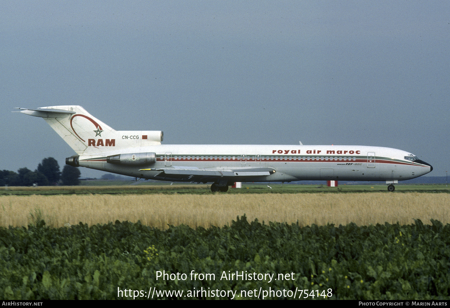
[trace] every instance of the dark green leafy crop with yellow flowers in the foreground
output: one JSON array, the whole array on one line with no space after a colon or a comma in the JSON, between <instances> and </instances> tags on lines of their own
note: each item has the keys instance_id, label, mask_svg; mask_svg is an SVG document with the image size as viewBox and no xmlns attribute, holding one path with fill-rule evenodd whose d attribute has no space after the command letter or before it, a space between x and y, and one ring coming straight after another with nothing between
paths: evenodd
<instances>
[{"instance_id":1,"label":"dark green leafy crop with yellow flowers in the foreground","mask_svg":"<svg viewBox=\"0 0 450 308\"><path fill-rule=\"evenodd\" d=\"M232 298L233 292L254 299L252 290L272 290L266 298L450 295L450 225L436 220L301 227L249 223L243 216L222 228L162 231L119 221L48 228L38 211L33 215L28 228L0 228L0 299L147 299L152 288L183 291L158 293L180 299ZM236 271L265 278L224 278Z\"/></svg>"}]
</instances>

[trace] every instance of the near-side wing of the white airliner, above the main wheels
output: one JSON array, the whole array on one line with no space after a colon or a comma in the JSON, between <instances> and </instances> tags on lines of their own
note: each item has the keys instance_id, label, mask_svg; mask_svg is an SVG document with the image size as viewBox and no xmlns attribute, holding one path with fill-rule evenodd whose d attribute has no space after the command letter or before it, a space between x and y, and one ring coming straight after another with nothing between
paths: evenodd
<instances>
[{"instance_id":1,"label":"near-side wing of the white airliner, above the main wheels","mask_svg":"<svg viewBox=\"0 0 450 308\"><path fill-rule=\"evenodd\" d=\"M212 179L220 178L234 178L239 180L241 177L258 177L268 176L275 173L273 168L253 167L253 168L230 168L230 169L215 169L215 168L189 168L189 167L172 167L172 168L151 168L140 169L148 171L159 171L158 177L169 179L185 179L195 181L212 181Z\"/></svg>"}]
</instances>

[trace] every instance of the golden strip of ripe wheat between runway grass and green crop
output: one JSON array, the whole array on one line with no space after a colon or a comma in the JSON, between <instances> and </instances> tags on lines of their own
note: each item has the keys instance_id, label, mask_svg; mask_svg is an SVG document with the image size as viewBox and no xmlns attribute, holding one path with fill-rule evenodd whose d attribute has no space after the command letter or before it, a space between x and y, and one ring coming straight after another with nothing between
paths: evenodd
<instances>
[{"instance_id":1,"label":"golden strip of ripe wheat between runway grass and green crop","mask_svg":"<svg viewBox=\"0 0 450 308\"><path fill-rule=\"evenodd\" d=\"M411 224L414 219L449 223L447 193L247 194L247 195L31 195L0 196L0 226L27 226L37 217L50 227L79 222L130 221L166 229L229 225L246 214L248 221L358 225Z\"/></svg>"}]
</instances>

